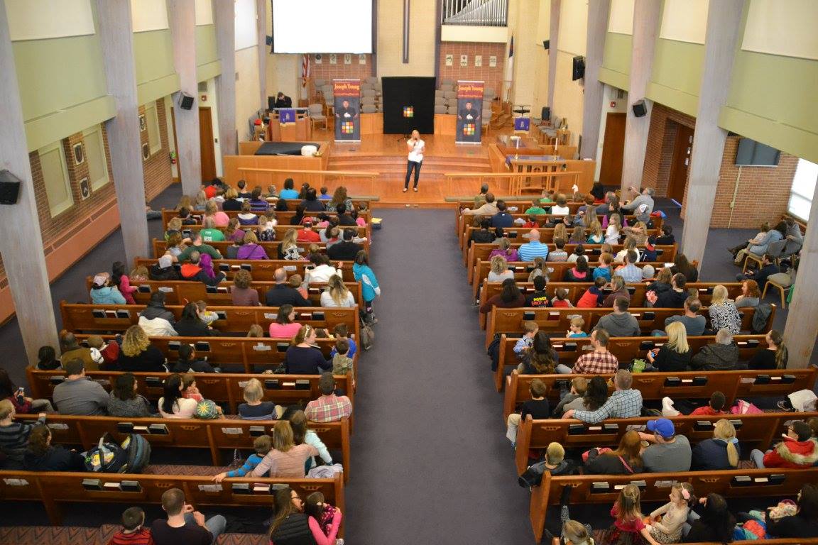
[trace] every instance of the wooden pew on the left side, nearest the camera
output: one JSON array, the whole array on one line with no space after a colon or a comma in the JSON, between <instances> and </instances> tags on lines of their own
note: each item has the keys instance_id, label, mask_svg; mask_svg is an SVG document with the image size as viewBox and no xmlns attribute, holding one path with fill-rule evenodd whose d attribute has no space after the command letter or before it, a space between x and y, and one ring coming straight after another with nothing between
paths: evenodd
<instances>
[{"instance_id":1,"label":"wooden pew on the left side, nearest the camera","mask_svg":"<svg viewBox=\"0 0 818 545\"><path fill-rule=\"evenodd\" d=\"M214 475L215 473L213 471ZM209 476L0 471L0 498L3 501L42 503L52 525L62 524L61 503L159 505L162 494L170 488L182 489L185 501L196 507L247 506L269 509L272 496L281 485L290 486L302 498L320 491L328 503L345 511L344 480L340 475L333 479L242 477L224 480L216 485ZM342 522L341 528L343 527Z\"/></svg>"}]
</instances>

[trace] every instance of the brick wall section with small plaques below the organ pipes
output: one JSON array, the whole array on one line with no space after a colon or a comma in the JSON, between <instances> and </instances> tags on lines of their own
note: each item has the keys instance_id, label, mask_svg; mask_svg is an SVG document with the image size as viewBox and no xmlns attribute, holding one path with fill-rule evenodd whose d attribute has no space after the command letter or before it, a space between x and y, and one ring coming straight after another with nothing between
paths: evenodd
<instances>
[{"instance_id":1,"label":"brick wall section with small plaques below the organ pipes","mask_svg":"<svg viewBox=\"0 0 818 545\"><path fill-rule=\"evenodd\" d=\"M452 56L452 66L446 65L446 56ZM469 64L461 68L461 55L469 56ZM474 66L474 56L482 56L482 66ZM497 66L490 68L488 58L497 57ZM501 90L501 82L505 75L506 67L506 44L505 43L479 43L479 42L442 42L440 44L440 56L438 57L438 69L440 79L458 79L482 81L486 87L494 89L495 94Z\"/></svg>"}]
</instances>

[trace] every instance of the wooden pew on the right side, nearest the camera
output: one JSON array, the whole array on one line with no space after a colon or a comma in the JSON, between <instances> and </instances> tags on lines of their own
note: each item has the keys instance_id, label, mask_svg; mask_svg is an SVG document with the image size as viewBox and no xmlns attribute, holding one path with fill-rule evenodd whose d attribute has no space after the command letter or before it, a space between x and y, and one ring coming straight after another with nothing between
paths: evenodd
<instances>
[{"instance_id":1,"label":"wooden pew on the right side, nearest the camera","mask_svg":"<svg viewBox=\"0 0 818 545\"><path fill-rule=\"evenodd\" d=\"M600 503L613 505L624 485L638 485L642 502L667 502L668 489L673 483L686 481L693 485L700 498L721 494L725 498L795 498L804 483L818 480L818 468L811 469L750 469L731 471L689 471L679 473L640 473L639 475L582 475L551 476L546 471L542 485L532 489L528 516L534 539L542 540L546 523L546 509L560 502L565 485L573 487L571 503ZM766 505L766 503L762 503ZM800 539L797 543L818 543L818 539ZM736 542L737 543L737 542ZM766 543L766 542L765 542Z\"/></svg>"}]
</instances>

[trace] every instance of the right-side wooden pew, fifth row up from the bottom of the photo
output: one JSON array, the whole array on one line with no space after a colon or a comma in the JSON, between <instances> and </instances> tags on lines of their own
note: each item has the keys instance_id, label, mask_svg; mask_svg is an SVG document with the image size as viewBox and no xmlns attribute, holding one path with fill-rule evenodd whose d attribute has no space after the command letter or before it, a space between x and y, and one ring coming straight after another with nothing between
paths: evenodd
<instances>
[{"instance_id":1,"label":"right-side wooden pew, fifth row up from the bottom of the photo","mask_svg":"<svg viewBox=\"0 0 818 545\"><path fill-rule=\"evenodd\" d=\"M775 319L775 305L767 319L764 330L772 328ZM665 319L681 314L681 309L639 308L631 307L628 311L636 318L642 333L650 333L654 329L664 329ZM741 331L751 331L753 324L754 306L739 308L741 315ZM560 333L568 331L571 317L582 316L585 319L585 330L591 331L596 323L605 315L611 314L609 308L492 308L486 323L486 348L491 344L495 333L518 333L523 331L523 322L531 320L537 322L540 331ZM706 310L702 310L705 314Z\"/></svg>"}]
</instances>

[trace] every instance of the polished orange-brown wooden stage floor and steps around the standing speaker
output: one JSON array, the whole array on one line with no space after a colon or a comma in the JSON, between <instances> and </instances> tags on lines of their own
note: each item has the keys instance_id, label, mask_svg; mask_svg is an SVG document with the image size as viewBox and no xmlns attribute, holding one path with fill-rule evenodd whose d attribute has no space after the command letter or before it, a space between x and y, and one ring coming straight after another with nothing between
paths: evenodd
<instances>
[{"instance_id":1,"label":"polished orange-brown wooden stage floor and steps around the standing speaker","mask_svg":"<svg viewBox=\"0 0 818 545\"><path fill-rule=\"evenodd\" d=\"M331 131L317 130L313 140L330 141L330 170L379 172L374 188L369 181L345 182L350 194L374 194L380 201L375 207L451 207L447 197L476 194L478 182L453 182L447 189L444 172L491 172L488 162L488 146L497 135L512 134L513 128L500 131L492 129L483 136L480 145L456 145L453 136L421 135L426 144L423 166L420 169L418 192L410 188L403 193L406 176L406 141L400 135L363 135L360 142L333 142Z\"/></svg>"}]
</instances>

